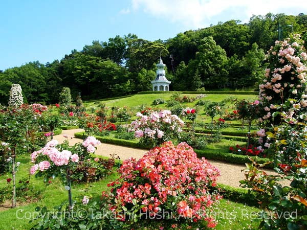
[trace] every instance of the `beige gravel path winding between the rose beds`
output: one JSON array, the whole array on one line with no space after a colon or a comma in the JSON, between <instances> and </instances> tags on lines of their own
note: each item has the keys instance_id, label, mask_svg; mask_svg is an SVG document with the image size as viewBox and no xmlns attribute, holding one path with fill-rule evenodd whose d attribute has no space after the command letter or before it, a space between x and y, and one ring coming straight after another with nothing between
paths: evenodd
<instances>
[{"instance_id":1,"label":"beige gravel path winding between the rose beds","mask_svg":"<svg viewBox=\"0 0 307 230\"><path fill-rule=\"evenodd\" d=\"M59 141L59 143L62 143L65 140L65 137L63 137L64 134L74 136L75 132L82 132L82 131L84 130L83 129L63 130L60 135L55 135L54 139ZM74 145L76 143L82 142L82 140L73 138L69 139L69 142L71 145ZM124 160L130 157L139 159L146 152L147 150L143 149L129 148L124 146L102 143L100 146L98 146L97 150L95 151L95 154L102 156L110 156L111 154L116 154L120 157L120 159ZM220 162L217 160L208 160L208 161L212 165L220 169L221 176L217 180L217 182L219 183L223 183L224 185L229 185L232 187L239 187L240 183L238 181L245 178L244 172L241 172L241 170L245 169L244 165L235 165L235 164ZM266 172L268 174L276 174L273 170L266 170Z\"/></svg>"}]
</instances>

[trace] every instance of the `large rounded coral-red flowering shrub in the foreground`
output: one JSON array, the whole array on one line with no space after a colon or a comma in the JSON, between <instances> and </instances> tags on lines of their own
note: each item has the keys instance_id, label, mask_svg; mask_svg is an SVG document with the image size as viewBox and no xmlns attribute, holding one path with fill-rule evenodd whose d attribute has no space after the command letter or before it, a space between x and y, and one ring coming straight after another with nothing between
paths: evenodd
<instances>
[{"instance_id":1,"label":"large rounded coral-red flowering shrub in the foreground","mask_svg":"<svg viewBox=\"0 0 307 230\"><path fill-rule=\"evenodd\" d=\"M103 192L108 209L118 217L116 221L128 224L147 215L168 222L205 220L208 227L216 225L207 213L220 196L210 194L208 186L216 185L220 171L206 159L199 159L186 143L174 146L165 142L138 161L125 160L119 173L120 178L108 184L113 187L111 194ZM169 215L161 217L162 212Z\"/></svg>"}]
</instances>

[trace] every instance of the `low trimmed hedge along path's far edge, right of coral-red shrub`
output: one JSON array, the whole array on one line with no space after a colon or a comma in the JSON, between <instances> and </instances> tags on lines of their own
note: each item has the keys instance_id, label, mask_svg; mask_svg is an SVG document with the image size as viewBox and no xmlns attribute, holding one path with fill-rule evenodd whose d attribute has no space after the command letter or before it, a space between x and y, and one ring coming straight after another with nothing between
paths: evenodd
<instances>
[{"instance_id":1,"label":"low trimmed hedge along path's far edge, right of coral-red shrub","mask_svg":"<svg viewBox=\"0 0 307 230\"><path fill-rule=\"evenodd\" d=\"M198 157L205 157L207 159L214 159L214 160L221 160L223 162L228 162L232 164L246 164L251 163L249 157L256 159L258 164L264 164L266 162L269 162L270 159L268 158L260 158L256 156L246 156L246 155L239 155L234 153L217 153L217 152L209 152L209 150L199 150L194 149L194 152L197 153ZM273 168L273 164L266 165L264 168Z\"/></svg>"}]
</instances>

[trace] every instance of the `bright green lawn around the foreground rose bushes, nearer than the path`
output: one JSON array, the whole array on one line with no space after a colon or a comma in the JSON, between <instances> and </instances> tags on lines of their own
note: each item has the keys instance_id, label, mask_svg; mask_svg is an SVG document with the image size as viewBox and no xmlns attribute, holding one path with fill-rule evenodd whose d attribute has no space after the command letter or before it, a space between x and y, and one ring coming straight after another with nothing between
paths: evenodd
<instances>
[{"instance_id":1,"label":"bright green lawn around the foreground rose bushes, nearer than the path","mask_svg":"<svg viewBox=\"0 0 307 230\"><path fill-rule=\"evenodd\" d=\"M32 166L29 156L18 156L18 161L22 164L17 172L17 180L27 177L29 174L29 168ZM9 173L0 176L0 187L6 185L6 179L11 177ZM118 177L117 174L112 174L104 180L93 182L86 185L73 186L73 199L81 200L84 195L92 195L96 200L99 200L101 191L107 190L107 183L113 181ZM45 185L42 182L42 178L35 178L34 176L30 179L30 184L38 190L45 190ZM87 191L87 192L86 192ZM10 209L7 211L0 212L0 229L29 229L30 219L21 218L23 216L31 217L35 212L36 206L47 206L53 208L59 205L63 201L67 200L67 191L64 190L61 183L54 180L43 192L43 197L34 203L30 203L25 206L17 207L16 209ZM245 206L243 204L231 202L228 200L221 200L220 204L214 209L213 216L216 217L219 224L216 229L254 229L259 224L258 221L251 222L250 217L244 216L243 213L258 212L259 209ZM230 213L234 214L235 217Z\"/></svg>"}]
</instances>

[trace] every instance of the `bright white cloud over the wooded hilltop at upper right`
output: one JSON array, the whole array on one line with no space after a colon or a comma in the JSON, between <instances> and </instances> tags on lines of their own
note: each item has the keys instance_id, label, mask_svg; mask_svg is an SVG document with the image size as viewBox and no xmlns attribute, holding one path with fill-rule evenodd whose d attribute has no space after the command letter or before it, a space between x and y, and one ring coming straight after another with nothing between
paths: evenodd
<instances>
[{"instance_id":1,"label":"bright white cloud over the wooded hilltop at upper right","mask_svg":"<svg viewBox=\"0 0 307 230\"><path fill-rule=\"evenodd\" d=\"M286 13L297 15L307 11L307 2L302 0L131 0L134 11L168 19L192 28L206 27L213 17L220 21L239 19L247 22L255 15ZM237 14L239 9L239 14ZM233 18L235 13L236 18ZM229 17L228 18L227 14Z\"/></svg>"}]
</instances>

